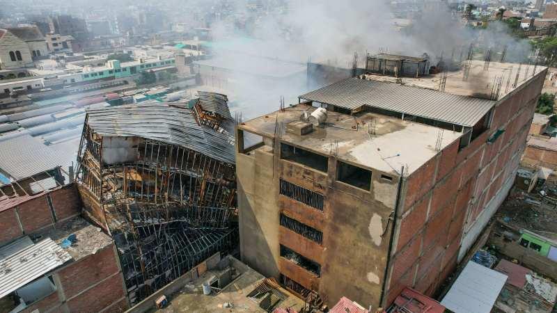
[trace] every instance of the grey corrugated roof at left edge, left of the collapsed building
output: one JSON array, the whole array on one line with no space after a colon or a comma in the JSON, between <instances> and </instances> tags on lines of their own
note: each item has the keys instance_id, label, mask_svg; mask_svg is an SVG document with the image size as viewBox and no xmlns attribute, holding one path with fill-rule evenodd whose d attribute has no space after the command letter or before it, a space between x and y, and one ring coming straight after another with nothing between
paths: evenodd
<instances>
[{"instance_id":1,"label":"grey corrugated roof at left edge, left of the collapsed building","mask_svg":"<svg viewBox=\"0 0 557 313\"><path fill-rule=\"evenodd\" d=\"M54 150L29 135L0 141L0 170L23 179L60 166Z\"/></svg>"}]
</instances>

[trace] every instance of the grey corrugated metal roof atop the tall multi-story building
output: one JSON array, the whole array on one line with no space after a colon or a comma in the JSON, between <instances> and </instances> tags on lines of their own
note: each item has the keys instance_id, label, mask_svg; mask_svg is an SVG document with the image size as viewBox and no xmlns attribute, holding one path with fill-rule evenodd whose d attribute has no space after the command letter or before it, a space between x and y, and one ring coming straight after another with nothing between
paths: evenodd
<instances>
[{"instance_id":1,"label":"grey corrugated metal roof atop the tall multi-story building","mask_svg":"<svg viewBox=\"0 0 557 313\"><path fill-rule=\"evenodd\" d=\"M371 106L466 127L476 125L495 105L487 99L359 78L345 79L299 97L350 110Z\"/></svg>"}]
</instances>

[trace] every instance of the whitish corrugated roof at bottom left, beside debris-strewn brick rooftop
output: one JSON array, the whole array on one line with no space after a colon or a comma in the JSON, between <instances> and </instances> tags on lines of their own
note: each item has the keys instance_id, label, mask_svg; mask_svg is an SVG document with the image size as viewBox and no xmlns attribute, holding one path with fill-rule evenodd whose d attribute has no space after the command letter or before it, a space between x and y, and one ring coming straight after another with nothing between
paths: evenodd
<instances>
[{"instance_id":1,"label":"whitish corrugated roof at bottom left, beside debris-strewn brick rooftop","mask_svg":"<svg viewBox=\"0 0 557 313\"><path fill-rule=\"evenodd\" d=\"M0 298L68 262L72 257L52 239L27 246L0 259Z\"/></svg>"}]
</instances>

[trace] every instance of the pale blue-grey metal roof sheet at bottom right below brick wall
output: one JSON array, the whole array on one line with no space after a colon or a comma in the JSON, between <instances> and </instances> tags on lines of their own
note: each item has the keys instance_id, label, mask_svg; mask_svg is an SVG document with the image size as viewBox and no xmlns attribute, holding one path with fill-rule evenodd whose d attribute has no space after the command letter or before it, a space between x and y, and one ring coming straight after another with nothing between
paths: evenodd
<instances>
[{"instance_id":1,"label":"pale blue-grey metal roof sheet at bottom right below brick wall","mask_svg":"<svg viewBox=\"0 0 557 313\"><path fill-rule=\"evenodd\" d=\"M507 275L468 262L441 301L455 313L489 313L507 281Z\"/></svg>"}]
</instances>

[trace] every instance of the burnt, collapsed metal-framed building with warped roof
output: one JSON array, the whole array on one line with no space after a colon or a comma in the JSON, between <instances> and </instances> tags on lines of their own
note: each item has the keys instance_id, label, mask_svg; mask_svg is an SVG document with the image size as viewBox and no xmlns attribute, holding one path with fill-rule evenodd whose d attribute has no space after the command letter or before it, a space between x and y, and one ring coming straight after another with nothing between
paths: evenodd
<instances>
[{"instance_id":1,"label":"burnt, collapsed metal-framed building with warped roof","mask_svg":"<svg viewBox=\"0 0 557 313\"><path fill-rule=\"evenodd\" d=\"M234 123L226 102L204 93L86 115L79 192L86 215L116 242L132 303L237 246Z\"/></svg>"}]
</instances>

